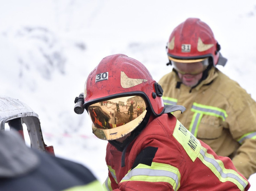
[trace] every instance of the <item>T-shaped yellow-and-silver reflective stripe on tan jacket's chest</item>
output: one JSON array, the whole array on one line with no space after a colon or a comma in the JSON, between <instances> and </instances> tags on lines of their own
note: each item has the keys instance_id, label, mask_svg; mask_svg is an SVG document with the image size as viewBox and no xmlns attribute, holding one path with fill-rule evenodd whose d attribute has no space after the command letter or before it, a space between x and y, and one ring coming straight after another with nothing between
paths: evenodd
<instances>
[{"instance_id":1,"label":"T-shaped yellow-and-silver reflective stripe on tan jacket's chest","mask_svg":"<svg viewBox=\"0 0 256 191\"><path fill-rule=\"evenodd\" d=\"M224 109L213 107L213 106L207 106L202 104L193 103L193 106L191 107L191 111L195 112L192 118L192 121L189 126L189 131L196 137L198 132L198 126L201 122L201 119L203 115L211 115L215 116L217 118L221 118L223 121L225 121L226 117L228 117L228 114L226 114L226 111Z\"/></svg>"}]
</instances>

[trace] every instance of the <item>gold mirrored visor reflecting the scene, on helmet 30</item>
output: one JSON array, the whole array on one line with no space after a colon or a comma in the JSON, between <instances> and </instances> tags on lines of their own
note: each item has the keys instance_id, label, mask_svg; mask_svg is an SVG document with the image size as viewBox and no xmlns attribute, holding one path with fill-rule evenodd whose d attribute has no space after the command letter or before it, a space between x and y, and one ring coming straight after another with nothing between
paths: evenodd
<instances>
[{"instance_id":1,"label":"gold mirrored visor reflecting the scene, on helmet 30","mask_svg":"<svg viewBox=\"0 0 256 191\"><path fill-rule=\"evenodd\" d=\"M147 104L141 96L119 97L88 107L93 133L100 139L115 140L132 132L144 119Z\"/></svg>"}]
</instances>

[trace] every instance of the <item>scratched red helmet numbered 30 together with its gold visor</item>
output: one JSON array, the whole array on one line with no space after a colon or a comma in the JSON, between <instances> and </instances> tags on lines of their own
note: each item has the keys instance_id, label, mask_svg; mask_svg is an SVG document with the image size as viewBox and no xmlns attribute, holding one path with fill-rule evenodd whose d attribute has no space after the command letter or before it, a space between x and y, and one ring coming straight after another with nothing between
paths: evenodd
<instances>
[{"instance_id":1,"label":"scratched red helmet numbered 30 together with its gold visor","mask_svg":"<svg viewBox=\"0 0 256 191\"><path fill-rule=\"evenodd\" d=\"M126 98L126 100L122 102L121 98ZM117 99L120 100L118 102L114 101ZM121 124L121 122L116 123L116 121L120 111L124 109L123 107L128 111L126 105L135 107L138 104L142 106L140 101L145 108L145 110L142 110L143 107L141 107L141 112L146 112L147 108L155 116L158 116L164 111L164 103L158 83L152 79L150 72L143 64L124 54L115 54L103 58L85 82L84 108L90 114L92 121L95 120L93 132L98 138L114 140L133 131L143 120L143 117L141 117L141 120L136 119L137 121L130 119L136 121L136 123L129 123L128 130L124 130L123 127L126 122ZM104 104L107 104L107 106ZM119 111L105 110L105 108L110 107L109 104L115 105L115 107L118 105ZM97 114L96 110L97 112L101 111L101 114ZM141 113L135 115L135 118L139 114ZM107 123L106 121L98 121L99 115L104 115ZM112 119L114 115L115 119ZM126 115L128 116L127 112ZM119 132L122 133L119 134ZM115 136L113 136L114 134Z\"/></svg>"}]
</instances>

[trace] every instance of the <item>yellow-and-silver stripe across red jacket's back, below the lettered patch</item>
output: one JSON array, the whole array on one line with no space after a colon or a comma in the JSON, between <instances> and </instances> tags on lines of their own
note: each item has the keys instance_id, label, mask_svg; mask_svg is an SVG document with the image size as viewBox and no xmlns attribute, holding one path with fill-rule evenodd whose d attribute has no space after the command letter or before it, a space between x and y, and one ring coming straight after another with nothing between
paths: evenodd
<instances>
[{"instance_id":1,"label":"yellow-and-silver stripe across red jacket's back, below the lettered patch","mask_svg":"<svg viewBox=\"0 0 256 191\"><path fill-rule=\"evenodd\" d=\"M221 160L216 160L212 154L207 153L207 149L202 147L198 158L219 178L221 182L233 182L240 190L244 190L248 181L241 177L235 170L226 169Z\"/></svg>"}]
</instances>

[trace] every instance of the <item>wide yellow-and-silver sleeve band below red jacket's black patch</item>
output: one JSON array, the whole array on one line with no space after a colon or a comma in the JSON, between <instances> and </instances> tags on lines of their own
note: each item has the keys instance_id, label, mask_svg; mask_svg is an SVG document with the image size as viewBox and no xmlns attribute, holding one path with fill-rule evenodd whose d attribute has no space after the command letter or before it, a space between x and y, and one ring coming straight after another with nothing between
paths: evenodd
<instances>
[{"instance_id":1,"label":"wide yellow-and-silver sleeve band below red jacket's black patch","mask_svg":"<svg viewBox=\"0 0 256 191\"><path fill-rule=\"evenodd\" d=\"M151 166L139 164L125 175L120 181L146 181L167 182L172 185L173 190L180 187L181 174L178 168L162 163L152 162Z\"/></svg>"}]
</instances>

